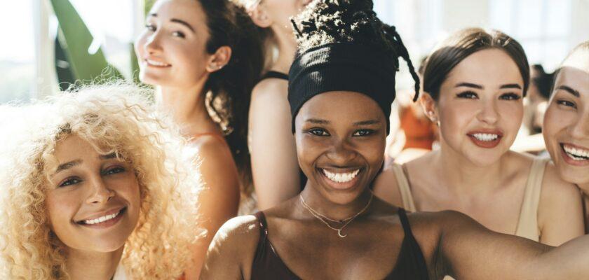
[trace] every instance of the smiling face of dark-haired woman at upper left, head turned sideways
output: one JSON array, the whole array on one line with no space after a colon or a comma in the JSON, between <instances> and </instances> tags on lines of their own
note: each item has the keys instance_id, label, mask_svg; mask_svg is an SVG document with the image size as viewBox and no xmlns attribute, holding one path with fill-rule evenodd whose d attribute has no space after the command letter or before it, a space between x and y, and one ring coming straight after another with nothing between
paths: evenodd
<instances>
[{"instance_id":1,"label":"smiling face of dark-haired woman at upper left, head turned sideways","mask_svg":"<svg viewBox=\"0 0 589 280\"><path fill-rule=\"evenodd\" d=\"M157 1L135 42L140 79L150 85L191 87L208 78L206 15L196 0Z\"/></svg>"}]
</instances>

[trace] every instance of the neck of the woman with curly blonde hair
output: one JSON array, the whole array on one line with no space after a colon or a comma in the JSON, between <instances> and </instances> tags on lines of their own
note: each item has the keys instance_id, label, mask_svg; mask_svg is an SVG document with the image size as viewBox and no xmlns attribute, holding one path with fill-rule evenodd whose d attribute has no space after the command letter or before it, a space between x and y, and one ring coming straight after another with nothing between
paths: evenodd
<instances>
[{"instance_id":1,"label":"neck of the woman with curly blonde hair","mask_svg":"<svg viewBox=\"0 0 589 280\"><path fill-rule=\"evenodd\" d=\"M123 255L123 247L101 253L70 249L67 252L66 272L70 279L109 280Z\"/></svg>"}]
</instances>

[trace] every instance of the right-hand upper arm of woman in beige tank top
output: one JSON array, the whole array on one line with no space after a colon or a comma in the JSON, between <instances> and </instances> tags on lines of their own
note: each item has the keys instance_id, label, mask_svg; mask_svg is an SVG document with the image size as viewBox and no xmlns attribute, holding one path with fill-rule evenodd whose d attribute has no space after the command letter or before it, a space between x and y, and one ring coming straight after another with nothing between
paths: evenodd
<instances>
[{"instance_id":1,"label":"right-hand upper arm of woman in beige tank top","mask_svg":"<svg viewBox=\"0 0 589 280\"><path fill-rule=\"evenodd\" d=\"M544 174L538 209L540 241L558 246L584 234L581 195L576 186L560 179L552 164Z\"/></svg>"}]
</instances>

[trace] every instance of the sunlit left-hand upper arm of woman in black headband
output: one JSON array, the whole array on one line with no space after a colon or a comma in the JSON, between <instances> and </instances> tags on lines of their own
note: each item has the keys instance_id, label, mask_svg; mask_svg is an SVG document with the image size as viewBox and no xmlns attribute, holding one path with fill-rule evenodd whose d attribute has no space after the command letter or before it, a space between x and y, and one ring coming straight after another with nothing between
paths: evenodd
<instances>
[{"instance_id":1,"label":"sunlit left-hand upper arm of woman in black headband","mask_svg":"<svg viewBox=\"0 0 589 280\"><path fill-rule=\"evenodd\" d=\"M249 279L258 239L254 216L227 221L208 248L200 279Z\"/></svg>"}]
</instances>

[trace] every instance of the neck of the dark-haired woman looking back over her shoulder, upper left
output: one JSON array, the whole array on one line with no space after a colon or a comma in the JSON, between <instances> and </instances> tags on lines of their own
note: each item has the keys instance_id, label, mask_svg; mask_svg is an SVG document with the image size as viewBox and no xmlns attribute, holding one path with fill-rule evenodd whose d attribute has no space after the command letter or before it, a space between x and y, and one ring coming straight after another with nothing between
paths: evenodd
<instances>
[{"instance_id":1,"label":"neck of the dark-haired woman looking back over her shoulder, upper left","mask_svg":"<svg viewBox=\"0 0 589 280\"><path fill-rule=\"evenodd\" d=\"M156 103L159 109L170 113L185 136L201 133L220 133L205 106L204 84L190 88L158 87Z\"/></svg>"}]
</instances>

